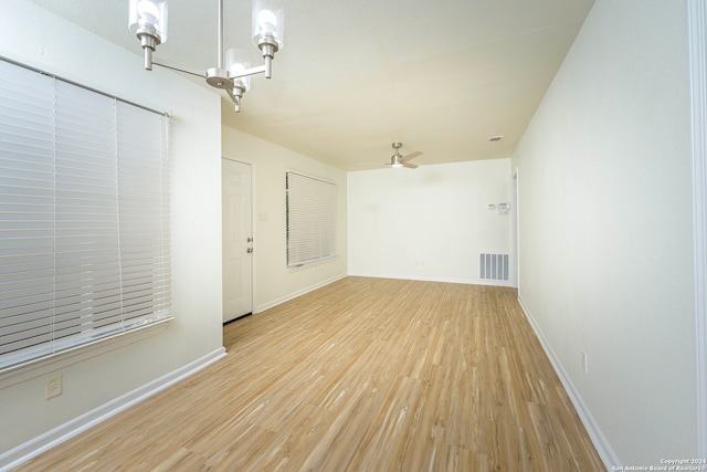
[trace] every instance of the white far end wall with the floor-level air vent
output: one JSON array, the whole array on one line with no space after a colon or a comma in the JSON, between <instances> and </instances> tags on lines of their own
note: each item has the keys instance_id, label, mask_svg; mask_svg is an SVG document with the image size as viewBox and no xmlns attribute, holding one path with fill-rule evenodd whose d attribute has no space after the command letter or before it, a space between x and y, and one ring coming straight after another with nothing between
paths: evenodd
<instances>
[{"instance_id":1,"label":"white far end wall with the floor-level air vent","mask_svg":"<svg viewBox=\"0 0 707 472\"><path fill-rule=\"evenodd\" d=\"M513 212L488 210L510 183L510 159L349 172L349 273L479 283L479 253L513 251Z\"/></svg>"}]
</instances>

